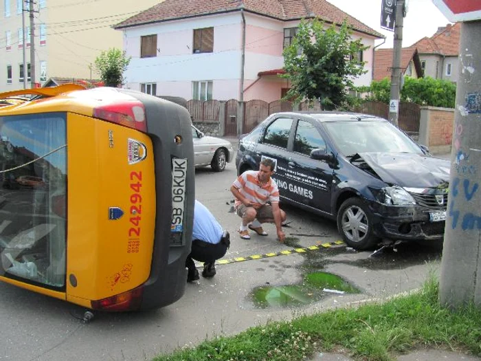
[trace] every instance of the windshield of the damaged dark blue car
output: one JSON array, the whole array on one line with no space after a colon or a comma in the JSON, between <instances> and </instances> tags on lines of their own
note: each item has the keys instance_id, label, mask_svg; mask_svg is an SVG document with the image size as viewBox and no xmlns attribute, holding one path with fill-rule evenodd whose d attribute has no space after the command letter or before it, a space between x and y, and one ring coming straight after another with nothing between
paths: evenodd
<instances>
[{"instance_id":1,"label":"windshield of the damaged dark blue car","mask_svg":"<svg viewBox=\"0 0 481 361\"><path fill-rule=\"evenodd\" d=\"M418 153L421 148L388 122L325 122L335 145L346 157L356 153Z\"/></svg>"}]
</instances>

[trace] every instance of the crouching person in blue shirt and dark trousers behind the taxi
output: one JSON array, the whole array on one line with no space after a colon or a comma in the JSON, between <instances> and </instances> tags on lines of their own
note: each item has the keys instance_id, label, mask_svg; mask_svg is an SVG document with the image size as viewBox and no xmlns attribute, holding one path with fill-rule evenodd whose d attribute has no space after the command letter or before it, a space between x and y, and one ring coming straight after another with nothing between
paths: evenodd
<instances>
[{"instance_id":1,"label":"crouching person in blue shirt and dark trousers behind the taxi","mask_svg":"<svg viewBox=\"0 0 481 361\"><path fill-rule=\"evenodd\" d=\"M230 246L230 236L214 215L197 199L194 204L194 225L192 226L192 247L186 259L187 282L197 281L199 271L194 259L204 263L202 276L214 277L215 261L224 256Z\"/></svg>"}]
</instances>

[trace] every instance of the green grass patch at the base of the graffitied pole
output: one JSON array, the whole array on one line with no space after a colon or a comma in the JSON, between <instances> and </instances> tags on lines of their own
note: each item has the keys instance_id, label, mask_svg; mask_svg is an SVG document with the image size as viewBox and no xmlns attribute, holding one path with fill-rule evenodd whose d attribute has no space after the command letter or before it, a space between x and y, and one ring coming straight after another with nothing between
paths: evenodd
<instances>
[{"instance_id":1,"label":"green grass patch at the base of the graffitied pole","mask_svg":"<svg viewBox=\"0 0 481 361\"><path fill-rule=\"evenodd\" d=\"M386 303L271 322L154 360L302 360L315 350L338 347L355 358L372 361L393 360L395 353L416 347L463 349L479 356L481 309L440 307L438 282L430 278L420 292Z\"/></svg>"}]
</instances>

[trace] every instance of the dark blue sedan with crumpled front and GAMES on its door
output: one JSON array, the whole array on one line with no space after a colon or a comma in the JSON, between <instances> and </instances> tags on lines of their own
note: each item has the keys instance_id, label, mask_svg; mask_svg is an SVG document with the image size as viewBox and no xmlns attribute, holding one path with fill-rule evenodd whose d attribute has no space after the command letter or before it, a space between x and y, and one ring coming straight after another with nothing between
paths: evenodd
<instances>
[{"instance_id":1,"label":"dark blue sedan with crumpled front and GAMES on its door","mask_svg":"<svg viewBox=\"0 0 481 361\"><path fill-rule=\"evenodd\" d=\"M243 135L237 173L276 160L281 200L335 219L344 241L442 240L449 161L385 119L335 112L276 113Z\"/></svg>"}]
</instances>

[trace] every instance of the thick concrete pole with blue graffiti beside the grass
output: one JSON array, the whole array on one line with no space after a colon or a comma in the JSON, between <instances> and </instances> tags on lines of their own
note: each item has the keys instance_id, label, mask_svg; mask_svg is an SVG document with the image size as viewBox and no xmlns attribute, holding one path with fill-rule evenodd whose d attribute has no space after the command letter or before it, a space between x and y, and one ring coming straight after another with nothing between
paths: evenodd
<instances>
[{"instance_id":1,"label":"thick concrete pole with blue graffiti beside the grass","mask_svg":"<svg viewBox=\"0 0 481 361\"><path fill-rule=\"evenodd\" d=\"M481 20L461 25L440 303L481 307Z\"/></svg>"}]
</instances>

